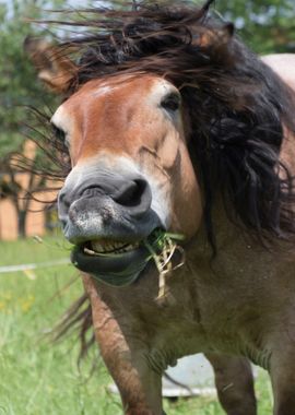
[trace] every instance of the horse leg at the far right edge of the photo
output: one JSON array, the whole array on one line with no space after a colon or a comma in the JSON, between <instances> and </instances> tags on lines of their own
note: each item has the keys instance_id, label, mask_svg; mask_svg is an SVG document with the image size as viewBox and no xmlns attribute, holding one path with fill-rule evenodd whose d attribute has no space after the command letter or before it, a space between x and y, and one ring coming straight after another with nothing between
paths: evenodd
<instances>
[{"instance_id":1,"label":"horse leg at the far right edge of the photo","mask_svg":"<svg viewBox=\"0 0 295 415\"><path fill-rule=\"evenodd\" d=\"M290 341L290 340L288 340ZM286 341L287 344L287 341ZM274 415L295 415L294 351L276 351L271 357L270 376L274 398Z\"/></svg>"}]
</instances>

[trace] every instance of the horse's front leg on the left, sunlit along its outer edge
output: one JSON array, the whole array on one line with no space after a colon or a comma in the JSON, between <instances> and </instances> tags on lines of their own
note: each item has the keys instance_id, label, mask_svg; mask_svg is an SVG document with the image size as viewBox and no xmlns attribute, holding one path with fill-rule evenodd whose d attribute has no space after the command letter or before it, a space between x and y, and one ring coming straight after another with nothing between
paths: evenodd
<instances>
[{"instance_id":1,"label":"horse's front leg on the left, sunlit along its outer edge","mask_svg":"<svg viewBox=\"0 0 295 415\"><path fill-rule=\"evenodd\" d=\"M90 277L84 276L84 285L92 305L95 336L104 361L119 389L125 414L163 415L162 376L149 367L148 349L139 339L141 333L130 332L131 322L128 324L126 321L126 325L118 322Z\"/></svg>"}]
</instances>

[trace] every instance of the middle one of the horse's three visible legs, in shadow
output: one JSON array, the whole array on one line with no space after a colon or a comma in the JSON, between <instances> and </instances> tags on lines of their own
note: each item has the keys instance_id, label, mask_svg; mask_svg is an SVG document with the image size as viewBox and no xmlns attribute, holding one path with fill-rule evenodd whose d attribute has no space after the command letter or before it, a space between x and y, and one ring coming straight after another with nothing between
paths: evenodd
<instances>
[{"instance_id":1,"label":"middle one of the horse's three visible legs, in shadow","mask_svg":"<svg viewBox=\"0 0 295 415\"><path fill-rule=\"evenodd\" d=\"M205 355L215 374L219 400L227 415L256 415L251 366L246 358Z\"/></svg>"}]
</instances>

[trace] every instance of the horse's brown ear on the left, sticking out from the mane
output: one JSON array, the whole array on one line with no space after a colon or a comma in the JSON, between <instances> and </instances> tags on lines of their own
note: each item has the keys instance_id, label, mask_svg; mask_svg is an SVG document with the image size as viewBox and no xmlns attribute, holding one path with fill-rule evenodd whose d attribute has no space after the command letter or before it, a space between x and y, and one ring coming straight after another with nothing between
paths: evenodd
<instances>
[{"instance_id":1,"label":"horse's brown ear on the left, sticking out from the mane","mask_svg":"<svg viewBox=\"0 0 295 415\"><path fill-rule=\"evenodd\" d=\"M75 64L58 47L45 39L26 37L24 50L33 61L38 78L56 93L68 91L75 76Z\"/></svg>"}]
</instances>

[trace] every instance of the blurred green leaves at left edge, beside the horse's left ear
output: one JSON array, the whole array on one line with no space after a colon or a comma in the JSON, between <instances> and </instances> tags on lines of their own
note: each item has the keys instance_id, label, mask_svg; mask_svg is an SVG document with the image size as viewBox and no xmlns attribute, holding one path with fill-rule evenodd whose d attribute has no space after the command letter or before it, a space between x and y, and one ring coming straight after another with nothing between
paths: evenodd
<instances>
[{"instance_id":1,"label":"blurred green leaves at left edge, beside the horse's left ear","mask_svg":"<svg viewBox=\"0 0 295 415\"><path fill-rule=\"evenodd\" d=\"M24 141L27 105L38 106L44 88L37 82L32 63L23 51L32 26L25 19L38 17L43 1L13 0L0 8L0 158L19 150ZM47 96L50 103L49 95Z\"/></svg>"}]
</instances>

